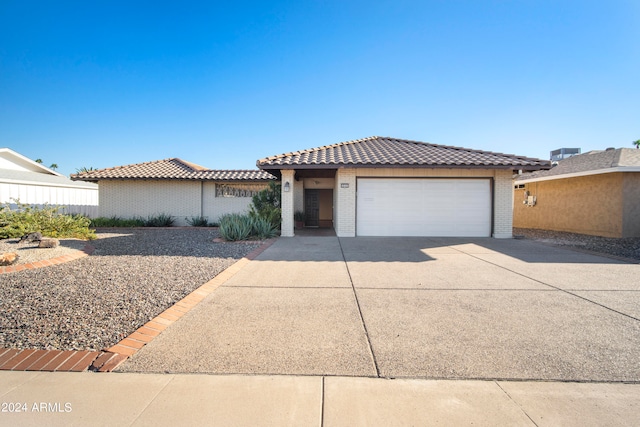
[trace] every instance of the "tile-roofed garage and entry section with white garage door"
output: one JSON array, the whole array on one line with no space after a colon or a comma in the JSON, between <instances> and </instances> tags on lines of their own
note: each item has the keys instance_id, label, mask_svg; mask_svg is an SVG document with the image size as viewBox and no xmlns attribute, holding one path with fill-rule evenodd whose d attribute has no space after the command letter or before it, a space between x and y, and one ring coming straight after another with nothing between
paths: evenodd
<instances>
[{"instance_id":1,"label":"tile-roofed garage and entry section with white garage door","mask_svg":"<svg viewBox=\"0 0 640 427\"><path fill-rule=\"evenodd\" d=\"M282 236L306 225L351 236L512 237L513 173L550 162L370 137L258 160L282 184Z\"/></svg>"}]
</instances>

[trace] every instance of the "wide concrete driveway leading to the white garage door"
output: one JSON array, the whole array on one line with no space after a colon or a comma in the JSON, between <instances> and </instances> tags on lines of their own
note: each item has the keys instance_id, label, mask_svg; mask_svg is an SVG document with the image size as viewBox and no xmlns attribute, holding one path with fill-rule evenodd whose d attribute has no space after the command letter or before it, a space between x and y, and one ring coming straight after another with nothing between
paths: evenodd
<instances>
[{"instance_id":1,"label":"wide concrete driveway leading to the white garage door","mask_svg":"<svg viewBox=\"0 0 640 427\"><path fill-rule=\"evenodd\" d=\"M280 238L118 369L640 381L640 266L524 240Z\"/></svg>"}]
</instances>

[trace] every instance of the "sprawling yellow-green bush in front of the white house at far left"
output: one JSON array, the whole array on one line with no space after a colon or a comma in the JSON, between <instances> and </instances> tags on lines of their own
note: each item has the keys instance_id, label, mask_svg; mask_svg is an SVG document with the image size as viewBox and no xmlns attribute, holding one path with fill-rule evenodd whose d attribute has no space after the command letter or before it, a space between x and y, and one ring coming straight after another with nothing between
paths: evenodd
<instances>
[{"instance_id":1,"label":"sprawling yellow-green bush in front of the white house at far left","mask_svg":"<svg viewBox=\"0 0 640 427\"><path fill-rule=\"evenodd\" d=\"M36 207L18 200L15 202L15 209L11 209L8 203L0 209L0 239L22 237L34 232L54 238L96 238L95 231L89 229L91 220L85 216L61 213L59 206Z\"/></svg>"}]
</instances>

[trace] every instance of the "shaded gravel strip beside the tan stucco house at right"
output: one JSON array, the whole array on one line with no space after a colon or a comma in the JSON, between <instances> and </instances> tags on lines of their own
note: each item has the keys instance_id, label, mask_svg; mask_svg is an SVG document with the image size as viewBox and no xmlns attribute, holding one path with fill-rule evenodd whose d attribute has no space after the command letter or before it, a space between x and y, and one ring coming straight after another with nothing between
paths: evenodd
<instances>
[{"instance_id":1,"label":"shaded gravel strip beside the tan stucco house at right","mask_svg":"<svg viewBox=\"0 0 640 427\"><path fill-rule=\"evenodd\" d=\"M568 246L603 255L640 261L640 237L615 239L530 228L514 228L513 234L515 236L523 236L525 239L537 240L541 243Z\"/></svg>"}]
</instances>

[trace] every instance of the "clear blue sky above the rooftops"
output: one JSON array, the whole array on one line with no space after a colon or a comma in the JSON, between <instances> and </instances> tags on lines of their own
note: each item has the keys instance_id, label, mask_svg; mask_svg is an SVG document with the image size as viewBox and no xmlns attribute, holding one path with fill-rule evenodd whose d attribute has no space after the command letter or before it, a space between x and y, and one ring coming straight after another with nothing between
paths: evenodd
<instances>
[{"instance_id":1,"label":"clear blue sky above the rooftops","mask_svg":"<svg viewBox=\"0 0 640 427\"><path fill-rule=\"evenodd\" d=\"M68 175L367 136L640 139L640 2L0 0L0 147Z\"/></svg>"}]
</instances>

